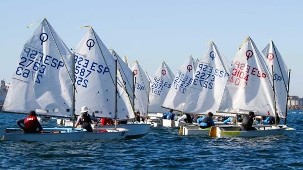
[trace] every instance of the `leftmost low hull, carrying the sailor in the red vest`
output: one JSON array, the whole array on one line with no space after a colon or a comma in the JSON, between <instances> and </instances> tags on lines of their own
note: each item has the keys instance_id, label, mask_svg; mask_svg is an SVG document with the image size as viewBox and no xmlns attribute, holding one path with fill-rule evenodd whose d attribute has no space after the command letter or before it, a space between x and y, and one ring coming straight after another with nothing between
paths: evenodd
<instances>
[{"instance_id":1,"label":"leftmost low hull, carrying the sailor in the red vest","mask_svg":"<svg viewBox=\"0 0 303 170\"><path fill-rule=\"evenodd\" d=\"M85 129L72 131L71 128L43 128L43 133L24 133L20 128L7 128L3 140L33 142L79 141L83 139L86 132Z\"/></svg>"}]
</instances>

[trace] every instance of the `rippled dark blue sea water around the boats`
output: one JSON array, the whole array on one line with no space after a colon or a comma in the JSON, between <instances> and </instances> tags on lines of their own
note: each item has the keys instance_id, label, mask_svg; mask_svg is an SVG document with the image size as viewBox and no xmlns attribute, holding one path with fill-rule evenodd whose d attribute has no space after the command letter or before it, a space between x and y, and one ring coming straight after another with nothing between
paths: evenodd
<instances>
[{"instance_id":1,"label":"rippled dark blue sea water around the boats","mask_svg":"<svg viewBox=\"0 0 303 170\"><path fill-rule=\"evenodd\" d=\"M289 111L297 130L283 136L209 138L180 136L178 129L157 127L138 139L102 142L0 141L0 169L184 169L303 170L303 111ZM0 127L17 127L19 114L0 114ZM55 120L43 122L54 127Z\"/></svg>"}]
</instances>

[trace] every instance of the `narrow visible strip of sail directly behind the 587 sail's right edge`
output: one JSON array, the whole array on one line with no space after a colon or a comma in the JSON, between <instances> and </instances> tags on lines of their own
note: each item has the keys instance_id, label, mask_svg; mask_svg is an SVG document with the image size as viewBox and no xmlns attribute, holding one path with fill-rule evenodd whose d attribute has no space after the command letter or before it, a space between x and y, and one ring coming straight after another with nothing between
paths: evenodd
<instances>
[{"instance_id":1,"label":"narrow visible strip of sail directly behind the 587 sail's right edge","mask_svg":"<svg viewBox=\"0 0 303 170\"><path fill-rule=\"evenodd\" d=\"M126 87L126 93L129 94L131 105L133 105L133 74L129 66L119 57L119 55L112 49L109 49L111 55L117 59L117 67L121 72L124 86Z\"/></svg>"}]
</instances>

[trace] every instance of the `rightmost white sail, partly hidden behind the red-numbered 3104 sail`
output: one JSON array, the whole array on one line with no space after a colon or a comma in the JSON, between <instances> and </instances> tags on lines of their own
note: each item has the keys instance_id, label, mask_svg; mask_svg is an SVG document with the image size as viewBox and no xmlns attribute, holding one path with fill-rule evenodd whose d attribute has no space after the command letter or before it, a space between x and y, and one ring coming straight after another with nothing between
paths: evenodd
<instances>
[{"instance_id":1,"label":"rightmost white sail, partly hidden behind the red-numbered 3104 sail","mask_svg":"<svg viewBox=\"0 0 303 170\"><path fill-rule=\"evenodd\" d=\"M270 72L271 82L275 82L275 93L276 93L276 108L279 117L284 118L286 113L286 99L287 99L287 86L288 86L288 68L283 61L281 54L273 41L262 50L265 57L265 63L267 69ZM272 66L274 67L274 77L272 76Z\"/></svg>"}]
</instances>

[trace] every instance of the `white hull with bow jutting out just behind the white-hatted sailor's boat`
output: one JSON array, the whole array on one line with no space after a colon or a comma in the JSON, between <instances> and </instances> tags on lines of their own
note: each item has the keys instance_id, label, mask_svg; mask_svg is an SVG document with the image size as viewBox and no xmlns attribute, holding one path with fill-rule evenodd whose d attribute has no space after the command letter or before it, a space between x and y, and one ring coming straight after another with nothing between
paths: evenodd
<instances>
[{"instance_id":1,"label":"white hull with bow jutting out just behind the white-hatted sailor's boat","mask_svg":"<svg viewBox=\"0 0 303 170\"><path fill-rule=\"evenodd\" d=\"M150 129L151 124L145 123L130 123L130 124L118 124L117 128L128 129L129 132L126 135L126 138L138 138L146 135ZM112 129L114 125L98 126L96 129Z\"/></svg>"}]
</instances>

